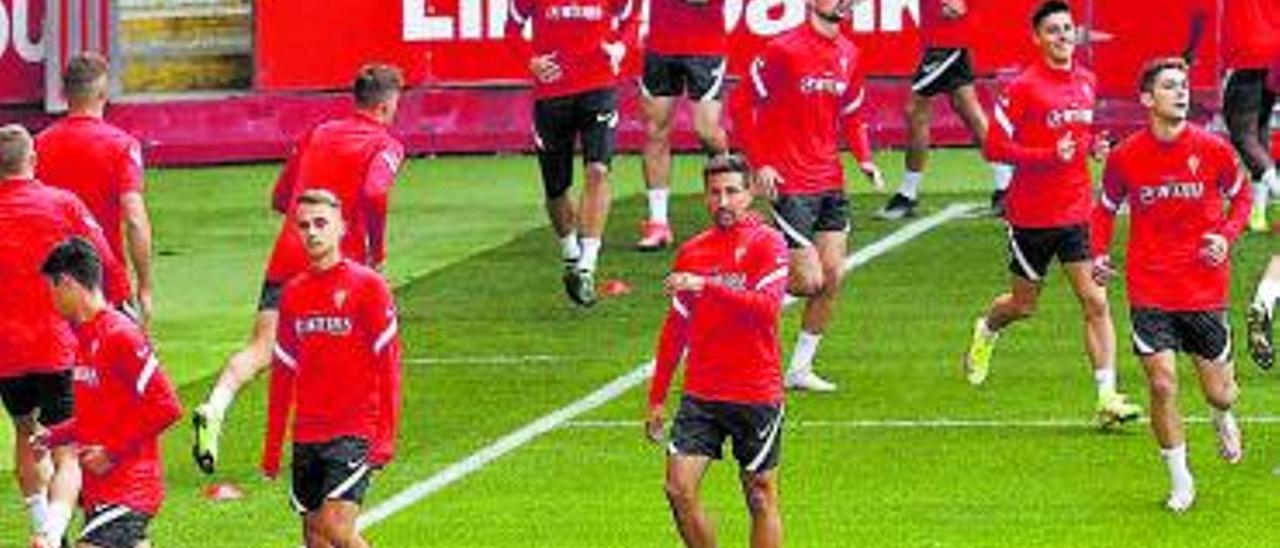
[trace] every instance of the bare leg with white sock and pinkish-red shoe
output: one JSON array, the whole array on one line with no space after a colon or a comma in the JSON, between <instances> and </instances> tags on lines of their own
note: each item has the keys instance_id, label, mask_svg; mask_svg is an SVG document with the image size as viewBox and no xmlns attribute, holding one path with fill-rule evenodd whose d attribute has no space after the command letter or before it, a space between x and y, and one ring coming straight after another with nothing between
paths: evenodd
<instances>
[{"instance_id":1,"label":"bare leg with white sock and pinkish-red shoe","mask_svg":"<svg viewBox=\"0 0 1280 548\"><path fill-rule=\"evenodd\" d=\"M654 251L672 242L667 205L671 196L671 118L676 97L641 96L645 118L644 184L649 200L649 219L641 227L636 248Z\"/></svg>"}]
</instances>

